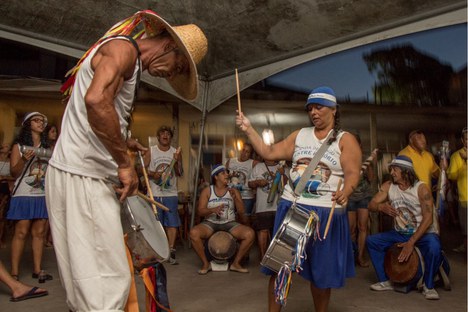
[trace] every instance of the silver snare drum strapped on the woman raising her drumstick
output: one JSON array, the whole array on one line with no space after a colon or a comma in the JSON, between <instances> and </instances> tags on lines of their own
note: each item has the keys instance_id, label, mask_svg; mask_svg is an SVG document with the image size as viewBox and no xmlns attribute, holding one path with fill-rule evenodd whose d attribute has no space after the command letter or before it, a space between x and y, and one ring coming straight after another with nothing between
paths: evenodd
<instances>
[{"instance_id":1,"label":"silver snare drum strapped on the woman raising her drumstick","mask_svg":"<svg viewBox=\"0 0 468 312\"><path fill-rule=\"evenodd\" d=\"M295 205L291 206L283 223L271 240L261 265L278 272L284 263L293 263L296 255L296 245L299 238L306 232L309 218L313 216L310 233L315 232L318 216L315 212L305 211Z\"/></svg>"}]
</instances>

